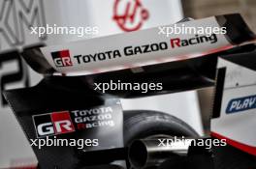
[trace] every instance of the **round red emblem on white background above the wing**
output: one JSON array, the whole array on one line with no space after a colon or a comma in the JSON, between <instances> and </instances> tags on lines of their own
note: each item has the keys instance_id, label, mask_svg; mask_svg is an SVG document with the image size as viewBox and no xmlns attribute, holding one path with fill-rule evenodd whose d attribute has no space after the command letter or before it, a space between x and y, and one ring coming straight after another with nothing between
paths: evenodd
<instances>
[{"instance_id":1,"label":"round red emblem on white background above the wing","mask_svg":"<svg viewBox=\"0 0 256 169\"><path fill-rule=\"evenodd\" d=\"M125 32L139 30L149 14L141 0L115 0L113 20Z\"/></svg>"}]
</instances>

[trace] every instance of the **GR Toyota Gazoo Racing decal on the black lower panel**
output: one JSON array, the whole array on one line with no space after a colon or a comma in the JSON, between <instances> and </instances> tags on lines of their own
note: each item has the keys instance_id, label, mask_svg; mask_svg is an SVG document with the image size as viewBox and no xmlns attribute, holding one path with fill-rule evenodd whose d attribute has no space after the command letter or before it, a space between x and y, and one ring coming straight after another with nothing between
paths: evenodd
<instances>
[{"instance_id":1,"label":"GR Toyota Gazoo Racing decal on the black lower panel","mask_svg":"<svg viewBox=\"0 0 256 169\"><path fill-rule=\"evenodd\" d=\"M37 137L45 137L95 127L114 127L112 113L112 106L102 106L34 115L32 118Z\"/></svg>"}]
</instances>

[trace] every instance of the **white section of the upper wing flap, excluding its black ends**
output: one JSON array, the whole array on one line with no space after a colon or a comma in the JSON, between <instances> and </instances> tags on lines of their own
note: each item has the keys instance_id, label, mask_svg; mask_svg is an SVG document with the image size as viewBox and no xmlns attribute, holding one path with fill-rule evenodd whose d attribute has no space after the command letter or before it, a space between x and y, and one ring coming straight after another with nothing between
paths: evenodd
<instances>
[{"instance_id":1,"label":"white section of the upper wing flap, excluding its black ends","mask_svg":"<svg viewBox=\"0 0 256 169\"><path fill-rule=\"evenodd\" d=\"M215 17L182 24L188 27L220 27ZM159 34L159 28L152 28L47 46L41 48L41 51L51 67L58 72L90 74L198 57L226 46L231 46L231 43L223 34L191 33L167 37Z\"/></svg>"}]
</instances>

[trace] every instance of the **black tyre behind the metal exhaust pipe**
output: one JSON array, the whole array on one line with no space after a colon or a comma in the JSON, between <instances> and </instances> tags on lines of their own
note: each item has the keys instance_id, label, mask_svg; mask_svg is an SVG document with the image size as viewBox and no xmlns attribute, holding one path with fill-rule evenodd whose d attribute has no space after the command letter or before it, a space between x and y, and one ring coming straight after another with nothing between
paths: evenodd
<instances>
[{"instance_id":1,"label":"black tyre behind the metal exhaust pipe","mask_svg":"<svg viewBox=\"0 0 256 169\"><path fill-rule=\"evenodd\" d=\"M157 111L134 110L124 112L124 143L157 135L192 136L198 133L176 117Z\"/></svg>"}]
</instances>

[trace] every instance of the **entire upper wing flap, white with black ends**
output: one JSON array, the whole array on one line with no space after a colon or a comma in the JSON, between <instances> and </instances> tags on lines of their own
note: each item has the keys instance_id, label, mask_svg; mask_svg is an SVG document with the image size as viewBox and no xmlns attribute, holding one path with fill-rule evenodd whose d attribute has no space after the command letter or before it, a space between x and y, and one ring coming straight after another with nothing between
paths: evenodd
<instances>
[{"instance_id":1,"label":"entire upper wing flap, white with black ends","mask_svg":"<svg viewBox=\"0 0 256 169\"><path fill-rule=\"evenodd\" d=\"M226 28L226 34L162 34L176 27ZM167 32L166 32L167 33ZM86 75L205 56L255 40L240 14L224 14L126 34L29 48L23 57L44 74Z\"/></svg>"}]
</instances>

